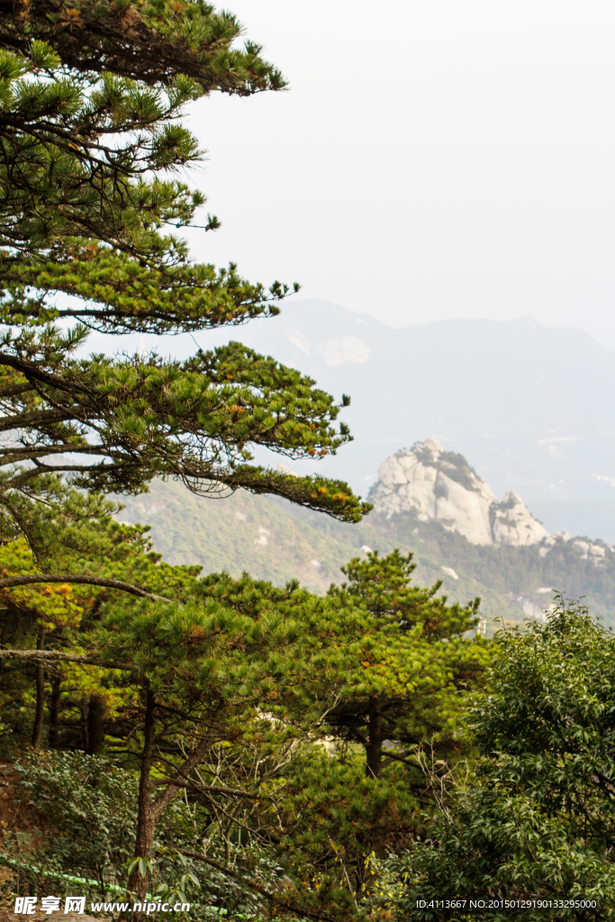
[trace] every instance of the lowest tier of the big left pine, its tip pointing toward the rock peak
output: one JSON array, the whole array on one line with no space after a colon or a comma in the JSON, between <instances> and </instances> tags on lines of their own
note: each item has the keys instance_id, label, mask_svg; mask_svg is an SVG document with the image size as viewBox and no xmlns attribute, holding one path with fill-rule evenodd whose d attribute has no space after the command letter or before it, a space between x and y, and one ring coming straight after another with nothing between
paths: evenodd
<instances>
[{"instance_id":1,"label":"lowest tier of the big left pine, its tip pointing toward the rock peak","mask_svg":"<svg viewBox=\"0 0 615 922\"><path fill-rule=\"evenodd\" d=\"M77 327L64 336L47 327L3 338L0 361L18 384L6 388L0 428L23 434L20 445L7 443L0 455L4 465L37 461L6 473L5 491L36 481L42 471L65 471L79 487L127 492L163 474L194 491L278 493L346 521L369 510L341 481L290 478L246 464L251 444L301 457L335 454L349 441L348 430L337 433L331 425L339 407L311 378L239 343L184 363L155 356L69 359L84 333ZM84 460L76 464L66 452ZM56 455L54 464L41 455Z\"/></svg>"}]
</instances>

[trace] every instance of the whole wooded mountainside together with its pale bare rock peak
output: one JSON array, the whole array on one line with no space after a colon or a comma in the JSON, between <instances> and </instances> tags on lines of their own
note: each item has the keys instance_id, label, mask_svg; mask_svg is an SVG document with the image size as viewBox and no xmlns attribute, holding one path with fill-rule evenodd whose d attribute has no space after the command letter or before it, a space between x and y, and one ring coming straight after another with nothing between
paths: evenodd
<instances>
[{"instance_id":1,"label":"whole wooded mountainside together with its pale bare rock peak","mask_svg":"<svg viewBox=\"0 0 615 922\"><path fill-rule=\"evenodd\" d=\"M497 619L543 618L554 590L584 597L595 613L615 623L612 547L565 532L549 535L521 500L511 503L505 494L497 502L463 456L440 447L427 440L384 460L381 478L368 497L373 512L358 525L333 522L245 491L225 502L197 502L171 481L154 481L150 492L124 499L119 517L150 526L165 560L198 563L206 573L226 569L238 576L248 571L277 585L296 576L314 592L324 593L340 582L340 567L350 557L399 548L414 554L421 583L441 579L442 591L460 602L481 597L481 615L490 632ZM411 457L406 469L420 476L408 482L393 466L400 456ZM392 482L392 468L403 483ZM397 500L392 506L391 497L401 494L403 503ZM438 509L445 514L439 517ZM497 523L500 541L493 538L491 522Z\"/></svg>"}]
</instances>

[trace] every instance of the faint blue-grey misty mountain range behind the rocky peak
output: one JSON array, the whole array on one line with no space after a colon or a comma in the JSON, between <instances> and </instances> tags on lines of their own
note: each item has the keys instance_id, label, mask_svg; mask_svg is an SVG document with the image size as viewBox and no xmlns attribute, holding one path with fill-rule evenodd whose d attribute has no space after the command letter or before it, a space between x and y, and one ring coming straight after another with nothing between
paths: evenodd
<instances>
[{"instance_id":1,"label":"faint blue-grey misty mountain range behind the rocky peak","mask_svg":"<svg viewBox=\"0 0 615 922\"><path fill-rule=\"evenodd\" d=\"M615 353L588 334L528 317L395 329L323 301L289 301L274 319L203 342L230 337L351 396L342 418L355 441L318 469L363 495L386 455L435 435L499 497L522 496L550 531L615 540Z\"/></svg>"}]
</instances>

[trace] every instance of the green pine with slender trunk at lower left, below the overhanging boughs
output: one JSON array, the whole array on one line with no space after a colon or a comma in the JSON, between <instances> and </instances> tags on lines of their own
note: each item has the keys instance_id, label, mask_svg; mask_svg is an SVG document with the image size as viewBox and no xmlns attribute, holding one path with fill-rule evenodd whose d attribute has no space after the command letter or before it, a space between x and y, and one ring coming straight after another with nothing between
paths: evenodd
<instances>
[{"instance_id":1,"label":"green pine with slender trunk at lower left, below the overhanging boughs","mask_svg":"<svg viewBox=\"0 0 615 922\"><path fill-rule=\"evenodd\" d=\"M254 806L270 799L261 798L260 786L275 762L276 747L267 741L275 733L260 709L269 698L273 706L280 700L278 680L298 632L283 590L246 578L233 583L229 597L224 581L196 580L200 568L160 561L143 528L105 514L109 504L92 518L92 497L65 493L64 520L50 526L41 519L34 538L51 569L81 571L85 585L31 585L37 567L25 540L0 547L0 629L10 644L0 651L4 728L23 739L31 715L41 745L44 684L51 679L53 746L95 753L106 740L108 753L121 752L137 770L140 860L129 886L143 898L157 827L179 793L203 801L225 827L230 820L231 830L242 824L244 806L252 822ZM54 546L46 548L52 536ZM118 588L130 584L119 577L146 586L137 590L146 599L126 601ZM242 772L242 752L250 755L254 740L261 768Z\"/></svg>"}]
</instances>

